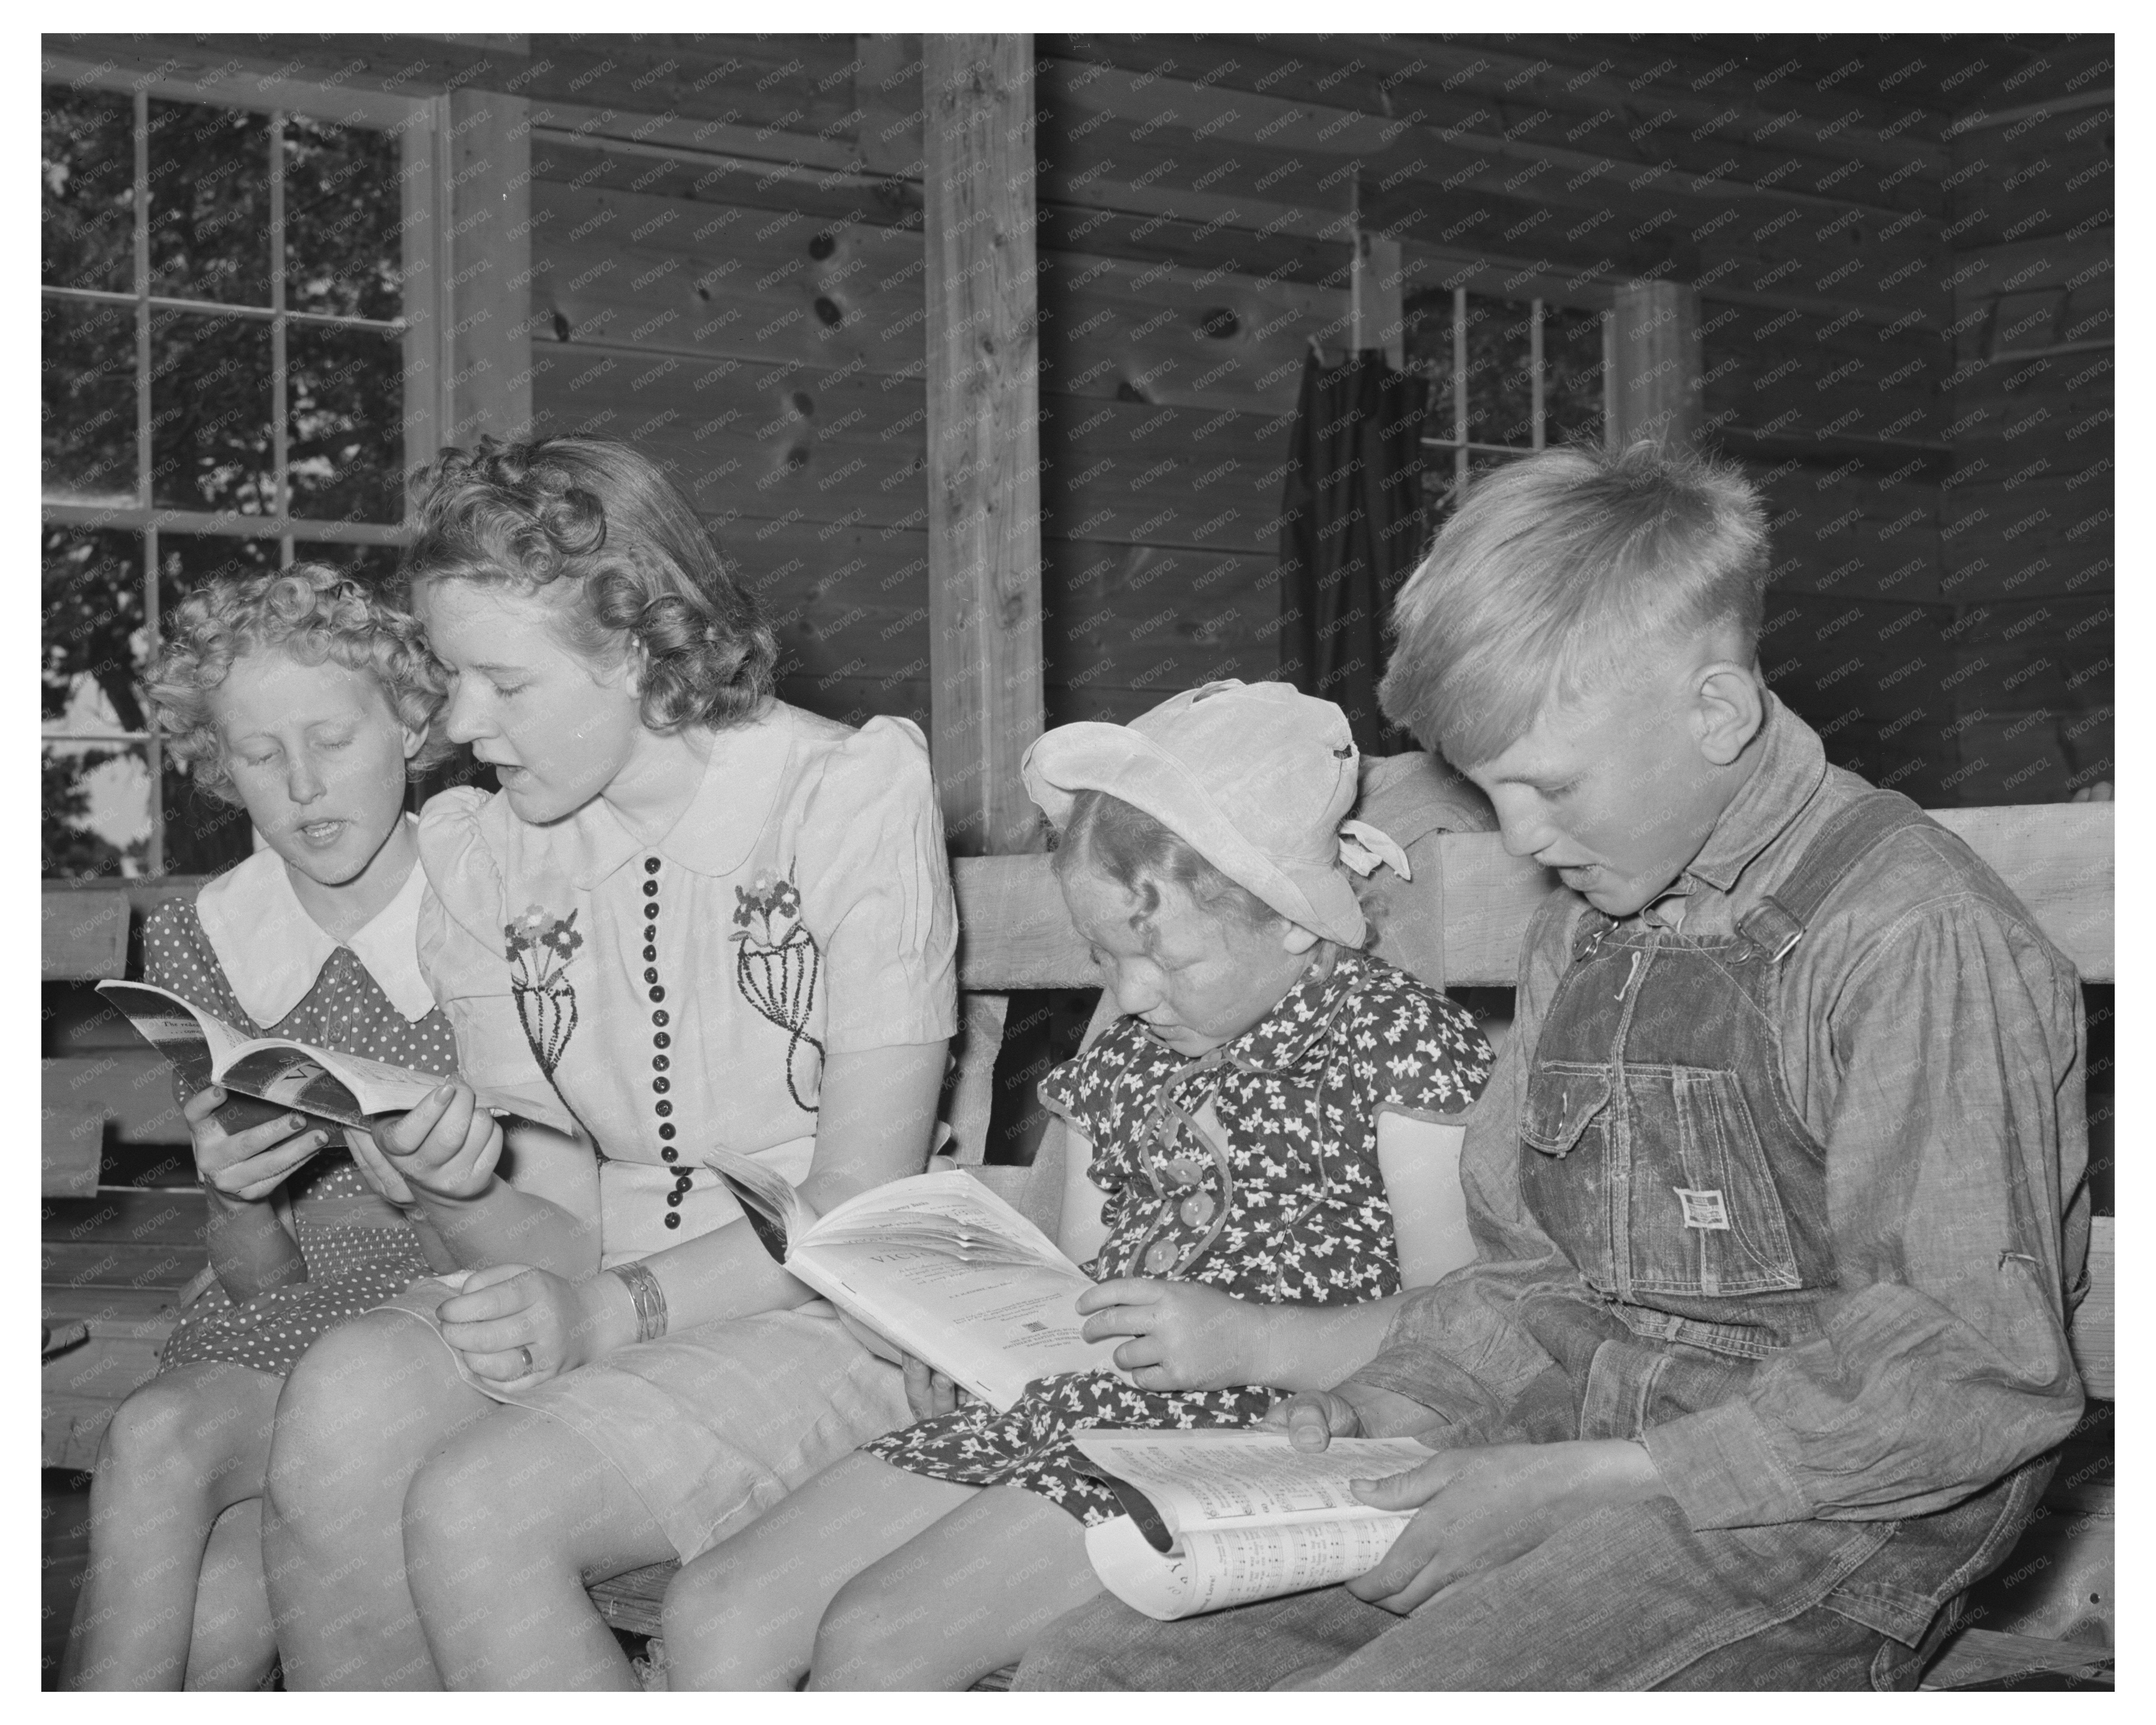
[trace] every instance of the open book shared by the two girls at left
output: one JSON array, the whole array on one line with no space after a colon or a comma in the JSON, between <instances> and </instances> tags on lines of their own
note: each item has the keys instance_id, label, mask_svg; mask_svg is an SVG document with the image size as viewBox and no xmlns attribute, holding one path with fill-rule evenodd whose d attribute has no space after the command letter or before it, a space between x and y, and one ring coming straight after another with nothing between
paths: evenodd
<instances>
[{"instance_id":1,"label":"open book shared by the two girls at left","mask_svg":"<svg viewBox=\"0 0 2156 1725\"><path fill-rule=\"evenodd\" d=\"M338 1054L287 1037L248 1037L216 1013L151 983L97 983L144 1039L192 1089L222 1085L239 1095L274 1104L244 1110L274 1119L280 1110L315 1115L338 1126L364 1128L369 1115L416 1108L442 1082L442 1074ZM226 1104L231 1108L231 1104ZM224 1130L237 1132L254 1119L224 1115Z\"/></svg>"}]
</instances>

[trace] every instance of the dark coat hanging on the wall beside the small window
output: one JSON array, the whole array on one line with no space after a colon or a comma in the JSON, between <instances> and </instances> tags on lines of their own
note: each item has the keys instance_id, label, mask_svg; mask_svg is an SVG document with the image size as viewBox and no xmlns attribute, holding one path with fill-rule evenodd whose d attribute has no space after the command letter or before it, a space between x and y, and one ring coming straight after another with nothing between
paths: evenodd
<instances>
[{"instance_id":1,"label":"dark coat hanging on the wall beside the small window","mask_svg":"<svg viewBox=\"0 0 2156 1725\"><path fill-rule=\"evenodd\" d=\"M1281 502L1281 677L1339 703L1365 755L1414 748L1378 712L1384 623L1423 554L1429 382L1384 349L1302 364Z\"/></svg>"}]
</instances>

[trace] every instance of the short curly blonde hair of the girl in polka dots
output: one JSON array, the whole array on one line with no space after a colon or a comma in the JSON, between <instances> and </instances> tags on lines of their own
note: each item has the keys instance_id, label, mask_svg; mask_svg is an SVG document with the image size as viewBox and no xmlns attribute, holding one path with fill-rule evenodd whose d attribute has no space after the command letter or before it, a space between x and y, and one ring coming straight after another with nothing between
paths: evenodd
<instances>
[{"instance_id":1,"label":"short curly blonde hair of the girl in polka dots","mask_svg":"<svg viewBox=\"0 0 2156 1725\"><path fill-rule=\"evenodd\" d=\"M405 763L412 778L451 753L448 737L433 729L448 684L427 651L416 617L323 563L220 576L194 589L164 619L164 647L142 690L168 753L211 796L239 802L209 696L235 660L265 649L300 664L336 660L349 671L371 673L399 724L427 737Z\"/></svg>"}]
</instances>

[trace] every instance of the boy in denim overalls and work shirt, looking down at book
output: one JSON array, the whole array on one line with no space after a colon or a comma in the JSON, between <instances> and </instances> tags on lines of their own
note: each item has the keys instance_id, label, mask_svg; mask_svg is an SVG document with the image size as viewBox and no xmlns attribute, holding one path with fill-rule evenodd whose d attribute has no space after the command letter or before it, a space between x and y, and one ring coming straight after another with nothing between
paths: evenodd
<instances>
[{"instance_id":1,"label":"boy in denim overalls and work shirt, looking down at book","mask_svg":"<svg viewBox=\"0 0 2156 1725\"><path fill-rule=\"evenodd\" d=\"M2081 1414L2072 964L1757 664L1766 528L1634 446L1479 481L1384 709L1565 891L1462 1160L1479 1257L1300 1447L1414 1432L1348 1587L1063 1619L1022 1688L1910 1688Z\"/></svg>"}]
</instances>

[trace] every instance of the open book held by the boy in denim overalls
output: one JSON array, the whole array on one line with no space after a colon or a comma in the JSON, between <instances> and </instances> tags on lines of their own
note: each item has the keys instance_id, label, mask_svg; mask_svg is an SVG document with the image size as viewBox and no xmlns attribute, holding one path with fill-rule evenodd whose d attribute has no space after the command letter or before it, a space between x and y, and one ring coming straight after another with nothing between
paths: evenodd
<instances>
[{"instance_id":1,"label":"open book held by the boy in denim overalls","mask_svg":"<svg viewBox=\"0 0 2156 1725\"><path fill-rule=\"evenodd\" d=\"M1281 1432L1072 1434L1089 1473L1125 1516L1089 1527L1102 1587L1147 1617L1197 1617L1250 1600L1330 1587L1371 1570L1412 1516L1348 1490L1427 1462L1414 1438L1335 1438L1289 1449Z\"/></svg>"}]
</instances>

